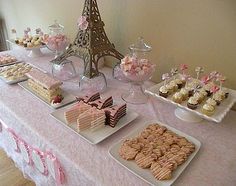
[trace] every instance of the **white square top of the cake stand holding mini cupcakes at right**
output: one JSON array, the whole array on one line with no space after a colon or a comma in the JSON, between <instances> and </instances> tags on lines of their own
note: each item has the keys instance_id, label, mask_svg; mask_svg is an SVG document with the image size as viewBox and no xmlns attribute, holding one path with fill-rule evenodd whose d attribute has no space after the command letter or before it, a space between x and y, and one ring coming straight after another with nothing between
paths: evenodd
<instances>
[{"instance_id":1,"label":"white square top of the cake stand holding mini cupcakes at right","mask_svg":"<svg viewBox=\"0 0 236 186\"><path fill-rule=\"evenodd\" d=\"M196 110L192 110L187 107L187 101L182 102L181 104L175 103L174 101L171 100L172 95L168 96L167 98L164 98L159 95L159 89L163 85L163 82L156 84L152 86L151 88L145 90L146 93L154 96L155 98L162 100L167 103L171 103L176 105L177 107L184 109L186 111L189 111L190 113L194 113L197 116L200 116L203 119L209 120L209 121L214 121L216 123L220 123L222 119L225 117L227 112L231 109L231 107L234 105L236 102L236 91L228 89L229 90L229 96L227 99L223 100L219 106L216 106L215 113L212 116L207 116L205 114L202 114L201 108L204 103L201 103L198 105L198 108Z\"/></svg>"}]
</instances>

